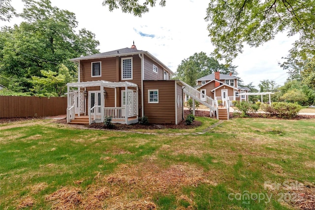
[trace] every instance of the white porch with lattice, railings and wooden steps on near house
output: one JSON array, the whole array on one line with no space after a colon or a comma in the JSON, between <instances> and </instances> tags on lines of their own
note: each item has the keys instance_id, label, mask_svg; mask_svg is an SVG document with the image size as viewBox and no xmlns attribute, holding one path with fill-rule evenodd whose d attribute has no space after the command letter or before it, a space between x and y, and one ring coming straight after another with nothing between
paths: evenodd
<instances>
[{"instance_id":1,"label":"white porch with lattice, railings and wooden steps on near house","mask_svg":"<svg viewBox=\"0 0 315 210\"><path fill-rule=\"evenodd\" d=\"M94 89L91 89L94 87ZM99 90L95 90L99 87ZM92 124L111 117L113 123L132 124L138 122L138 86L130 82L92 81L67 84L67 122ZM87 88L90 90L87 91ZM106 107L105 88L114 89L114 107ZM77 89L77 90L70 90ZM122 90L122 103L118 105L118 90ZM113 105L113 104L112 104ZM81 123L80 123L81 124Z\"/></svg>"}]
</instances>

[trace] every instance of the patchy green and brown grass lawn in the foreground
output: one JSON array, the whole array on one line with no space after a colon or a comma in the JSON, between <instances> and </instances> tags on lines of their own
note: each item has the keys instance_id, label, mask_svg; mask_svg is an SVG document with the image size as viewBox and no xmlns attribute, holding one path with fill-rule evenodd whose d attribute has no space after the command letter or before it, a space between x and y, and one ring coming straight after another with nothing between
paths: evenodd
<instances>
[{"instance_id":1,"label":"patchy green and brown grass lawn in the foreground","mask_svg":"<svg viewBox=\"0 0 315 210\"><path fill-rule=\"evenodd\" d=\"M202 135L150 135L1 124L0 209L313 208L314 127L235 118Z\"/></svg>"}]
</instances>

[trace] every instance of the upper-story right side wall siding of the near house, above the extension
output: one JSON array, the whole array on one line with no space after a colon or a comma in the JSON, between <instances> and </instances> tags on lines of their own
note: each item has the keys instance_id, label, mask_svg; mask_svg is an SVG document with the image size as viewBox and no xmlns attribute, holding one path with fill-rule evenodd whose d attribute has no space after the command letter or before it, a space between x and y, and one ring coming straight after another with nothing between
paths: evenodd
<instances>
[{"instance_id":1,"label":"upper-story right side wall siding of the near house, above the extension","mask_svg":"<svg viewBox=\"0 0 315 210\"><path fill-rule=\"evenodd\" d=\"M158 67L158 73L153 71L153 64ZM144 80L163 80L164 68L146 55L144 56Z\"/></svg>"}]
</instances>

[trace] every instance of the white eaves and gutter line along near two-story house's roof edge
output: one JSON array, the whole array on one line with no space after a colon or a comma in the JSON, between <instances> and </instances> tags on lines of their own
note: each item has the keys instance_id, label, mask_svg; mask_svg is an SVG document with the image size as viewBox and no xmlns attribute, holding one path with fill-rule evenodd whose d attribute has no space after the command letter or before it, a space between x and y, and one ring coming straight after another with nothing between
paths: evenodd
<instances>
[{"instance_id":1,"label":"white eaves and gutter line along near two-story house's roof edge","mask_svg":"<svg viewBox=\"0 0 315 210\"><path fill-rule=\"evenodd\" d=\"M151 57L151 59L157 61L158 64L160 64L170 74L174 74L174 72L171 69L169 69L164 63L162 63L160 60L158 60L156 57L154 57L152 54L150 54L147 51L138 51L138 52L134 52L134 53L120 53L120 54L102 55L102 56L91 56L91 57L88 57L88 58L82 57L82 58L70 59L70 61L78 63L80 60L115 58L117 56L133 56L133 55L139 55L139 54L142 54L142 53L145 54L148 57Z\"/></svg>"}]
</instances>

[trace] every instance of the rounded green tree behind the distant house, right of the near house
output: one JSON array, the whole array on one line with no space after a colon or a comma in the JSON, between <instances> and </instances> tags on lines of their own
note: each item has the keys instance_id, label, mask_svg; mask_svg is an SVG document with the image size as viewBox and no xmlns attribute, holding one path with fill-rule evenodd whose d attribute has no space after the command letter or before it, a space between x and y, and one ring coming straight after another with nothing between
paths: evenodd
<instances>
[{"instance_id":1,"label":"rounded green tree behind the distant house, right of the near house","mask_svg":"<svg viewBox=\"0 0 315 210\"><path fill-rule=\"evenodd\" d=\"M175 74L176 79L180 79L190 86L195 86L197 79L206 75L220 71L222 74L237 75L235 70L237 66L220 64L218 60L213 57L208 57L206 53L195 53L188 59L182 60L181 64L177 67Z\"/></svg>"}]
</instances>

